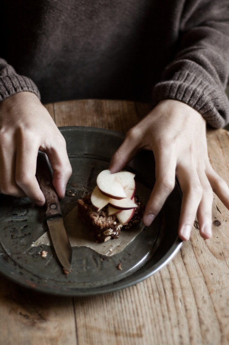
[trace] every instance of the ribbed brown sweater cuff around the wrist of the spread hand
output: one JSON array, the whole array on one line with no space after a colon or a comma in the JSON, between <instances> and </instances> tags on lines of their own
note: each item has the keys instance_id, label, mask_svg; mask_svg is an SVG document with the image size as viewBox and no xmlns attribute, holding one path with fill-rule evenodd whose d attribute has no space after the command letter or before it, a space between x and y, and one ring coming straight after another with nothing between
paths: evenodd
<instances>
[{"instance_id":1,"label":"ribbed brown sweater cuff around the wrist of the spread hand","mask_svg":"<svg viewBox=\"0 0 229 345\"><path fill-rule=\"evenodd\" d=\"M221 109L228 109L228 99L223 90L219 90L218 86L212 87L202 76L187 71L176 72L172 80L160 82L154 87L154 103L163 99L186 103L212 127L219 128L226 124L228 114L223 114Z\"/></svg>"}]
</instances>

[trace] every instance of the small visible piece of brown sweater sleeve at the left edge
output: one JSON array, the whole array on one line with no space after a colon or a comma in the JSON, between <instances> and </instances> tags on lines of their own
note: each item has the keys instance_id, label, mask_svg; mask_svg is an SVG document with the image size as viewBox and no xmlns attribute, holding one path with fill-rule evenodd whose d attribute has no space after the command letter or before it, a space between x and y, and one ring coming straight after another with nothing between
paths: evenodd
<instances>
[{"instance_id":1,"label":"small visible piece of brown sweater sleeve at the left edge","mask_svg":"<svg viewBox=\"0 0 229 345\"><path fill-rule=\"evenodd\" d=\"M40 99L40 93L34 82L27 77L18 75L14 68L0 59L0 102L14 93L30 91Z\"/></svg>"}]
</instances>

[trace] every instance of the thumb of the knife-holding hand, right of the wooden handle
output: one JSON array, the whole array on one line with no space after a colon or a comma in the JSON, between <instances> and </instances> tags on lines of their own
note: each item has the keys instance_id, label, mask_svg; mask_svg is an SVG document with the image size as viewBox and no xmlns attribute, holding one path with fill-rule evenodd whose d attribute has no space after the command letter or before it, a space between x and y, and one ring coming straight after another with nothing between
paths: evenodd
<instances>
[{"instance_id":1,"label":"thumb of the knife-holding hand, right of the wooden handle","mask_svg":"<svg viewBox=\"0 0 229 345\"><path fill-rule=\"evenodd\" d=\"M60 199L65 196L66 185L72 175L72 167L64 138L61 139L61 142L62 144L59 143L58 145L58 150L52 149L46 152L53 169L53 186Z\"/></svg>"}]
</instances>

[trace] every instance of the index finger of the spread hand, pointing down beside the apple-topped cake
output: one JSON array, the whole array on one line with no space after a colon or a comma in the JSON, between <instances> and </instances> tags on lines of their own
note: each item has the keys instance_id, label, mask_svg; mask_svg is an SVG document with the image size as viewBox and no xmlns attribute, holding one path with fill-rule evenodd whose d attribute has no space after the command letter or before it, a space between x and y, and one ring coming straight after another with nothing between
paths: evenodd
<instances>
[{"instance_id":1,"label":"index finger of the spread hand, pointing down beside the apple-topped cake","mask_svg":"<svg viewBox=\"0 0 229 345\"><path fill-rule=\"evenodd\" d=\"M155 155L156 181L146 205L143 223L149 226L159 213L168 195L175 186L176 157L165 152Z\"/></svg>"}]
</instances>

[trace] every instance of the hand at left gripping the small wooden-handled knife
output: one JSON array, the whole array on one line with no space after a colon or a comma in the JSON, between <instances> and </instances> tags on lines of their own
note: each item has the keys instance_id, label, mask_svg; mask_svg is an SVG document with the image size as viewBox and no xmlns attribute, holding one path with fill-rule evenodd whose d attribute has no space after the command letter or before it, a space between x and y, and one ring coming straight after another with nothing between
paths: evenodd
<instances>
[{"instance_id":1,"label":"hand at left gripping the small wooden-handled knife","mask_svg":"<svg viewBox=\"0 0 229 345\"><path fill-rule=\"evenodd\" d=\"M53 185L63 198L72 173L65 140L34 93L16 93L0 103L0 193L44 205L35 177L38 150L48 155Z\"/></svg>"}]
</instances>

